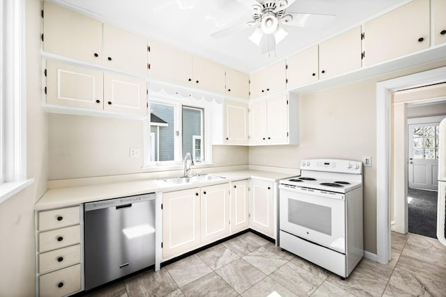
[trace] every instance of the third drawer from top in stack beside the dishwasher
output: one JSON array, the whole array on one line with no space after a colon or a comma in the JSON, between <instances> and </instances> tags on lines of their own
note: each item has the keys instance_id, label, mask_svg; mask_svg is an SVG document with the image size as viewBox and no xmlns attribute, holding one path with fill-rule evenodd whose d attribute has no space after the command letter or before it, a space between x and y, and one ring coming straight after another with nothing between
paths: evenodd
<instances>
[{"instance_id":1,"label":"third drawer from top in stack beside the dishwasher","mask_svg":"<svg viewBox=\"0 0 446 297\"><path fill-rule=\"evenodd\" d=\"M39 273L81 262L81 245L59 248L39 254Z\"/></svg>"}]
</instances>

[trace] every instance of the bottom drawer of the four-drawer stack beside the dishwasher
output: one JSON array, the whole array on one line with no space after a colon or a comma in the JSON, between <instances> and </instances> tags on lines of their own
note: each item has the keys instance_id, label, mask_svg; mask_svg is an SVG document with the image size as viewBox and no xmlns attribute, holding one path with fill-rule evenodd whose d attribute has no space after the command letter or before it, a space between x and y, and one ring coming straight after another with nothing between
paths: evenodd
<instances>
[{"instance_id":1,"label":"bottom drawer of the four-drawer stack beside the dishwasher","mask_svg":"<svg viewBox=\"0 0 446 297\"><path fill-rule=\"evenodd\" d=\"M39 276L40 297L66 296L81 289L81 264Z\"/></svg>"}]
</instances>

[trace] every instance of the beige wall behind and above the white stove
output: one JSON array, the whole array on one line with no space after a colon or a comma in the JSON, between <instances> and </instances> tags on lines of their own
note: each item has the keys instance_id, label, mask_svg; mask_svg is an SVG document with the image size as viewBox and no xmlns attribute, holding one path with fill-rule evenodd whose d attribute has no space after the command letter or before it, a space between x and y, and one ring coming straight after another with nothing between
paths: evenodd
<instances>
[{"instance_id":1,"label":"beige wall behind and above the white stove","mask_svg":"<svg viewBox=\"0 0 446 297\"><path fill-rule=\"evenodd\" d=\"M376 253L376 83L446 65L438 61L300 96L300 145L249 148L249 164L299 168L308 158L362 160L364 248Z\"/></svg>"}]
</instances>

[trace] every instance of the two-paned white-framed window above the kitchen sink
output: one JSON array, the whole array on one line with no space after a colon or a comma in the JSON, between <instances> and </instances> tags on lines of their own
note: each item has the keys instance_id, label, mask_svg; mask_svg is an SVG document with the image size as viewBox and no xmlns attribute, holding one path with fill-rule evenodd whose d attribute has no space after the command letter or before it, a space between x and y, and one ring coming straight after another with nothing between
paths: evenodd
<instances>
[{"instance_id":1,"label":"two-paned white-framed window above the kitchen sink","mask_svg":"<svg viewBox=\"0 0 446 297\"><path fill-rule=\"evenodd\" d=\"M184 105L183 105L184 104ZM187 104L187 105L186 105ZM196 106L192 106L196 105ZM151 100L150 131L146 130L145 160L147 166L173 166L183 162L188 152L195 165L210 159L205 150L204 114L208 102L197 99L154 98ZM211 145L208 145L211 147ZM149 156L150 155L150 156Z\"/></svg>"}]
</instances>

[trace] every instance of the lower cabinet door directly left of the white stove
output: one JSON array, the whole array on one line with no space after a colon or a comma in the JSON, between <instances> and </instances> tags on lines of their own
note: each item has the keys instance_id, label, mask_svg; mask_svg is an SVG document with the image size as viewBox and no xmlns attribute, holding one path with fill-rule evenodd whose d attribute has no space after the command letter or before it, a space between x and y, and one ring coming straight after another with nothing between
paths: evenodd
<instances>
[{"instance_id":1,"label":"lower cabinet door directly left of the white stove","mask_svg":"<svg viewBox=\"0 0 446 297\"><path fill-rule=\"evenodd\" d=\"M249 223L252 229L274 237L274 190L272 182L249 181Z\"/></svg>"}]
</instances>

